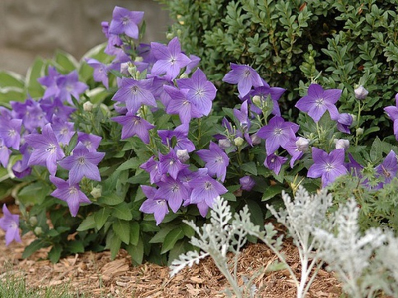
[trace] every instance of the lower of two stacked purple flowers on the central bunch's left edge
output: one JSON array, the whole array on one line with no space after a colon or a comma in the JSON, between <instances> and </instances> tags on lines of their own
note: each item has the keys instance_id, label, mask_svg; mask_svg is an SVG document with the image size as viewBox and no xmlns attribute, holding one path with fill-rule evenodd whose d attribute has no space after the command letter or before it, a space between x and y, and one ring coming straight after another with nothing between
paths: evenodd
<instances>
[{"instance_id":1,"label":"lower of two stacked purple flowers on the central bunch's left edge","mask_svg":"<svg viewBox=\"0 0 398 298\"><path fill-rule=\"evenodd\" d=\"M155 126L148 121L141 117L134 116L131 112L128 112L125 116L117 116L111 119L123 126L121 130L121 138L123 140L132 136L137 136L142 142L149 144L149 130L153 129Z\"/></svg>"}]
</instances>

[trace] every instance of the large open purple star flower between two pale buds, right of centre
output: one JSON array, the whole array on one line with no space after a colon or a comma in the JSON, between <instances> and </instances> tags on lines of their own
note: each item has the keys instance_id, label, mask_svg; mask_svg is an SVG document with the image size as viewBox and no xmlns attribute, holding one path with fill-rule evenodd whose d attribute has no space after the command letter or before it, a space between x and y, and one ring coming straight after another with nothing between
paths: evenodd
<instances>
[{"instance_id":1,"label":"large open purple star flower between two pale buds, right of centre","mask_svg":"<svg viewBox=\"0 0 398 298\"><path fill-rule=\"evenodd\" d=\"M257 132L257 136L261 139L265 139L265 149L267 155L275 152L279 146L285 146L285 144L295 139L295 133L298 131L299 125L293 122L285 121L280 116L274 116L268 122L268 125L263 126Z\"/></svg>"}]
</instances>

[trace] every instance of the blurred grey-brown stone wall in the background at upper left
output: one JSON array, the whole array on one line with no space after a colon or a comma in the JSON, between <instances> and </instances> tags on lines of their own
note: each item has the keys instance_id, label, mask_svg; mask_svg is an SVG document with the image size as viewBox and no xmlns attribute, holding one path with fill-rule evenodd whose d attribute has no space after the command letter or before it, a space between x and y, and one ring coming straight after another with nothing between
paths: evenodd
<instances>
[{"instance_id":1,"label":"blurred grey-brown stone wall in the background at upper left","mask_svg":"<svg viewBox=\"0 0 398 298\"><path fill-rule=\"evenodd\" d=\"M168 12L152 0L0 0L0 69L26 74L36 56L56 49L80 59L106 41L101 21L115 6L144 11L144 42L165 41Z\"/></svg>"}]
</instances>

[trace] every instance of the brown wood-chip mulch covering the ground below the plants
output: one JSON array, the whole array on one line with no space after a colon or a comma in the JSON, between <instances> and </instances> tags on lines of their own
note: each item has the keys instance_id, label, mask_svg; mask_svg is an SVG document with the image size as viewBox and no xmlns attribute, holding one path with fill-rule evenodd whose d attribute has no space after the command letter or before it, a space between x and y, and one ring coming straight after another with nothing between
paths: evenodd
<instances>
[{"instance_id":1,"label":"brown wood-chip mulch covering the ground below the plants","mask_svg":"<svg viewBox=\"0 0 398 298\"><path fill-rule=\"evenodd\" d=\"M9 206L11 212L16 210ZM2 216L0 211L0 216ZM52 264L46 260L49 249L40 249L27 259L22 259L24 247L35 239L33 234L22 236L22 243L5 246L4 231L0 229L0 279L8 272L23 276L26 286L39 289L43 286L67 285L75 294L93 298L217 298L225 297L228 283L211 258L185 268L170 278L168 267L151 263L131 265L129 254L121 250L115 260L110 252L85 252L61 259ZM284 243L288 263L299 275L300 265L296 247ZM249 244L239 258L238 275L251 277L261 268L267 268L277 258L264 244ZM287 270L261 270L255 278L258 297L293 298L296 288ZM338 298L341 284L333 273L321 269L314 280L308 298Z\"/></svg>"}]
</instances>

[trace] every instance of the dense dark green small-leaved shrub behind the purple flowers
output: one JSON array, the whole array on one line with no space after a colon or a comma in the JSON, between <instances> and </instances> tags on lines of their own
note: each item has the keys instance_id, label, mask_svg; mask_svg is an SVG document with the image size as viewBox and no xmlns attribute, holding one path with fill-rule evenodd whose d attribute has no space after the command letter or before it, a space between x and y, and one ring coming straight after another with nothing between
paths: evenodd
<instances>
[{"instance_id":1,"label":"dense dark green small-leaved shrub behind the purple flowers","mask_svg":"<svg viewBox=\"0 0 398 298\"><path fill-rule=\"evenodd\" d=\"M369 129L360 138L391 125L382 108L398 91L396 0L158 1L176 20L169 35L201 57L209 79L220 81L230 62L251 65L271 86L287 89L281 105L290 120L299 91L312 80L343 89L340 111L348 113L355 86L363 85L369 95L354 125ZM232 103L231 88L219 86L220 104Z\"/></svg>"}]
</instances>

